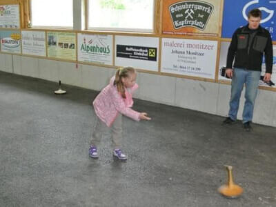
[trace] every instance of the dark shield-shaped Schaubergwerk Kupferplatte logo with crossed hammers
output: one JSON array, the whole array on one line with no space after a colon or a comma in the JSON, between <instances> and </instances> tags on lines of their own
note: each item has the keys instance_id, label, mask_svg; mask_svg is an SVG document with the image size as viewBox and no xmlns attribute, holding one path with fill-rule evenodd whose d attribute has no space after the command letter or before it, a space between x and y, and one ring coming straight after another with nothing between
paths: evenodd
<instances>
[{"instance_id":1,"label":"dark shield-shaped Schaubergwerk Kupferplatte logo with crossed hammers","mask_svg":"<svg viewBox=\"0 0 276 207\"><path fill-rule=\"evenodd\" d=\"M180 1L169 7L175 29L193 27L204 30L214 6L204 1Z\"/></svg>"}]
</instances>

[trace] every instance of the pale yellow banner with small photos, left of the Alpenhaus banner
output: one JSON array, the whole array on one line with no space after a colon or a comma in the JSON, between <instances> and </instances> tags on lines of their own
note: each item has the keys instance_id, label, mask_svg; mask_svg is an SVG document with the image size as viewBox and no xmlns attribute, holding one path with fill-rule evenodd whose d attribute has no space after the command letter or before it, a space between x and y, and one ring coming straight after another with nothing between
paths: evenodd
<instances>
[{"instance_id":1,"label":"pale yellow banner with small photos, left of the Alpenhaus banner","mask_svg":"<svg viewBox=\"0 0 276 207\"><path fill-rule=\"evenodd\" d=\"M48 57L76 60L76 34L47 32Z\"/></svg>"}]
</instances>

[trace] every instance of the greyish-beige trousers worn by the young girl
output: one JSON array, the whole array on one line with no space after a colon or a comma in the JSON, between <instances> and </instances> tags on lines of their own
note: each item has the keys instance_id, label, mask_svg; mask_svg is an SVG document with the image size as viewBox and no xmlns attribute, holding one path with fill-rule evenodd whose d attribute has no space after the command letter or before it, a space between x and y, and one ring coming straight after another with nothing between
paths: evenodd
<instances>
[{"instance_id":1,"label":"greyish-beige trousers worn by the young girl","mask_svg":"<svg viewBox=\"0 0 276 207\"><path fill-rule=\"evenodd\" d=\"M97 146L103 135L103 132L108 128L99 117L97 117L95 121L94 130L92 133L92 138L90 141L90 145ZM115 121L113 121L112 125L110 126L111 130L111 138L112 138L112 146L115 149L121 148L121 139L122 139L122 128L121 128L121 114L117 115Z\"/></svg>"}]
</instances>

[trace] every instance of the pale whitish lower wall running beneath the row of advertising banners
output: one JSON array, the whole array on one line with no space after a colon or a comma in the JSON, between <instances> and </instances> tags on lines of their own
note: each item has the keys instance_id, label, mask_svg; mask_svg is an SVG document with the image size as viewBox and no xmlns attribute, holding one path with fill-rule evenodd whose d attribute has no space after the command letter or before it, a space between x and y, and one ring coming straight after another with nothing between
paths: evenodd
<instances>
[{"instance_id":1,"label":"pale whitish lower wall running beneath the row of advertising banners","mask_svg":"<svg viewBox=\"0 0 276 207\"><path fill-rule=\"evenodd\" d=\"M1 53L0 70L49 81L61 80L62 83L92 90L101 90L115 73L112 68L76 65L76 63ZM135 92L135 98L227 116L230 98L229 85L143 72L139 72L137 83L139 89ZM238 119L242 119L243 106L244 92L240 101L241 110L239 110ZM275 108L276 92L259 90L253 122L276 126Z\"/></svg>"}]
</instances>

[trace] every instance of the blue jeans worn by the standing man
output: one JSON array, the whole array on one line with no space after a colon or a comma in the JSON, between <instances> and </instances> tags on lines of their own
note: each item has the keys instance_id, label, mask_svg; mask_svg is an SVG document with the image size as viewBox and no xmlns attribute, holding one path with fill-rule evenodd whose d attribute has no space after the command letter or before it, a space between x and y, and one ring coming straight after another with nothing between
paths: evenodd
<instances>
[{"instance_id":1,"label":"blue jeans worn by the standing man","mask_svg":"<svg viewBox=\"0 0 276 207\"><path fill-rule=\"evenodd\" d=\"M259 86L260 71L246 70L243 68L234 68L231 84L230 109L228 117L233 120L237 119L237 111L239 110L239 99L246 84L246 93L244 95L246 101L244 103L244 112L242 113L242 122L252 121L255 98Z\"/></svg>"}]
</instances>

